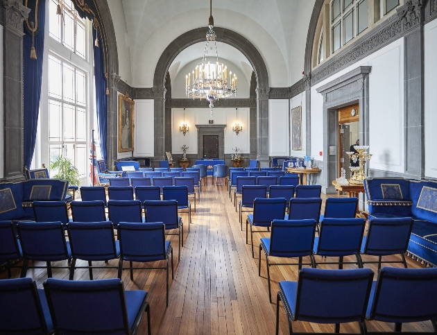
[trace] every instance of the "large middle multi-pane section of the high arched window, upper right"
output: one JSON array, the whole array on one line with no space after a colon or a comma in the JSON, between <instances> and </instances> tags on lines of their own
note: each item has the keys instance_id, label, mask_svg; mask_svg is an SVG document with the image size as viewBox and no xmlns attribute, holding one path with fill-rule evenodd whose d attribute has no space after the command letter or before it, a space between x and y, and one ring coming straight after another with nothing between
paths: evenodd
<instances>
[{"instance_id":1,"label":"large middle multi-pane section of the high arched window, upper right","mask_svg":"<svg viewBox=\"0 0 437 335\"><path fill-rule=\"evenodd\" d=\"M368 28L368 0L332 0L330 16L334 53Z\"/></svg>"}]
</instances>

